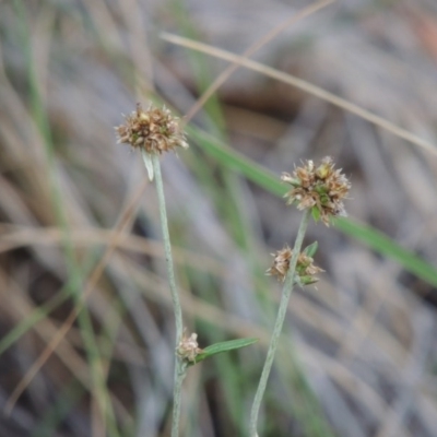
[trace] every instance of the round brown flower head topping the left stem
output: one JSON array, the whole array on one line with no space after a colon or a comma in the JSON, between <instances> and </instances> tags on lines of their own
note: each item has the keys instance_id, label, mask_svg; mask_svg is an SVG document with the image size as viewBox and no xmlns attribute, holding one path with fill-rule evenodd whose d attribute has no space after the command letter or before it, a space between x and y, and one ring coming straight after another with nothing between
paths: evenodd
<instances>
[{"instance_id":1,"label":"round brown flower head topping the left stem","mask_svg":"<svg viewBox=\"0 0 437 437\"><path fill-rule=\"evenodd\" d=\"M118 143L130 144L149 154L162 154L177 146L188 147L179 119L165 107L160 109L150 106L143 110L141 104L137 104L137 110L125 118L126 123L115 128Z\"/></svg>"}]
</instances>

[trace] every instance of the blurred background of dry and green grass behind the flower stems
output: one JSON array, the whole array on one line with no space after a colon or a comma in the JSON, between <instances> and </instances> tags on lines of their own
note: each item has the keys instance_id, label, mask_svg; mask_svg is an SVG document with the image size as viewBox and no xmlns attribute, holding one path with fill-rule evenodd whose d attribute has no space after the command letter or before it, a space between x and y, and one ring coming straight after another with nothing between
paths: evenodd
<instances>
[{"instance_id":1,"label":"blurred background of dry and green grass behind the flower stems","mask_svg":"<svg viewBox=\"0 0 437 437\"><path fill-rule=\"evenodd\" d=\"M264 272L302 216L279 176L331 155L350 217L309 226L326 273L292 296L260 436L437 436L437 3L307 7L0 1L0 436L169 436L157 201L114 126L137 102L186 116L228 67L162 32L240 55L292 17L251 59L392 125L239 68L163 157L185 324L201 347L259 338L190 369L181 435L246 435L281 294Z\"/></svg>"}]
</instances>

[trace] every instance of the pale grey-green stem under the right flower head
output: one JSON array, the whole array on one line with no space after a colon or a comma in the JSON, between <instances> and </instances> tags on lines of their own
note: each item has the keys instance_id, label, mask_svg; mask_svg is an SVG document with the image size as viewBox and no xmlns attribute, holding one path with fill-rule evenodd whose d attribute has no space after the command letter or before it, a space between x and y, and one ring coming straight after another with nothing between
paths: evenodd
<instances>
[{"instance_id":1,"label":"pale grey-green stem under the right flower head","mask_svg":"<svg viewBox=\"0 0 437 437\"><path fill-rule=\"evenodd\" d=\"M252 410L250 412L250 424L249 424L250 437L258 437L257 423L258 423L259 410L261 406L262 397L264 395L265 386L267 386L267 381L269 379L270 370L272 369L274 355L276 353L282 327L284 324L284 319L285 319L286 310L288 307L290 296L293 292L297 257L300 253L300 248L302 248L302 244L304 241L304 236L305 236L305 233L306 233L306 229L308 226L308 221L309 221L310 214L311 214L310 210L306 210L304 212L304 216L302 217L299 229L297 232L296 241L294 244L293 256L290 261L288 272L286 274L284 287L282 290L281 303L280 303L280 308L277 310L276 321L274 323L272 338L270 339L269 351L267 353L264 367L262 368L261 378L258 383L258 389L257 389L257 393L255 395Z\"/></svg>"}]
</instances>

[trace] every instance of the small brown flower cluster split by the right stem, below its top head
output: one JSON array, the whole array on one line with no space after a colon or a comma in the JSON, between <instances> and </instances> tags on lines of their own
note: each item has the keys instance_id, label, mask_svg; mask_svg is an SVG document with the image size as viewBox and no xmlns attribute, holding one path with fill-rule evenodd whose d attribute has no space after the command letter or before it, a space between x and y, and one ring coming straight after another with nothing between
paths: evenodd
<instances>
[{"instance_id":1,"label":"small brown flower cluster split by the right stem, below its top head","mask_svg":"<svg viewBox=\"0 0 437 437\"><path fill-rule=\"evenodd\" d=\"M288 246L285 246L276 253L272 253L272 256L274 257L273 265L267 271L267 274L276 276L280 281L284 282L290 269L290 261L293 257L293 250ZM309 285L319 280L316 277L316 274L323 272L323 270L315 265L312 261L312 258L305 252L299 253L297 257L296 282L298 284Z\"/></svg>"}]
</instances>

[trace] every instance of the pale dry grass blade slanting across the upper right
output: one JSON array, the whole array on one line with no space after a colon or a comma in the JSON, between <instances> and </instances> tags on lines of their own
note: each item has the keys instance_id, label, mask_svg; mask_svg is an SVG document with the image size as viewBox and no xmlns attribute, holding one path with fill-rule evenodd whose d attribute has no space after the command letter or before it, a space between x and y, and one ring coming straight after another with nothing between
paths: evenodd
<instances>
[{"instance_id":1,"label":"pale dry grass blade slanting across the upper right","mask_svg":"<svg viewBox=\"0 0 437 437\"><path fill-rule=\"evenodd\" d=\"M363 118L364 120L367 120L382 129L386 129L387 131L393 133L394 135L403 140L406 140L412 144L418 145L428 151L429 153L432 153L433 155L437 156L437 149L433 143L415 135L414 133L409 132L405 129L400 128L399 126L392 123L389 120L386 120L382 117L377 116L374 113L370 113L369 110L362 108L361 106L357 106L344 98L336 96L335 94L329 93L328 91L324 91L316 85L312 85L311 83L304 81L303 79L296 78L292 74L283 73L279 70L263 66L262 63L252 61L243 56L234 55L229 51L222 50L220 48L210 46L208 44L199 43L193 39L185 38L182 36L173 35L169 33L162 33L161 37L164 40L175 44L177 46L187 47L192 50L201 51L203 54L213 56L215 58L234 62L235 64L246 67L253 71L258 71L261 74L276 79L279 81L287 83L288 85L296 86L297 88L305 91L306 93L309 93L316 97L329 102L330 104L335 105L339 108L342 108L351 114L354 114Z\"/></svg>"}]
</instances>

